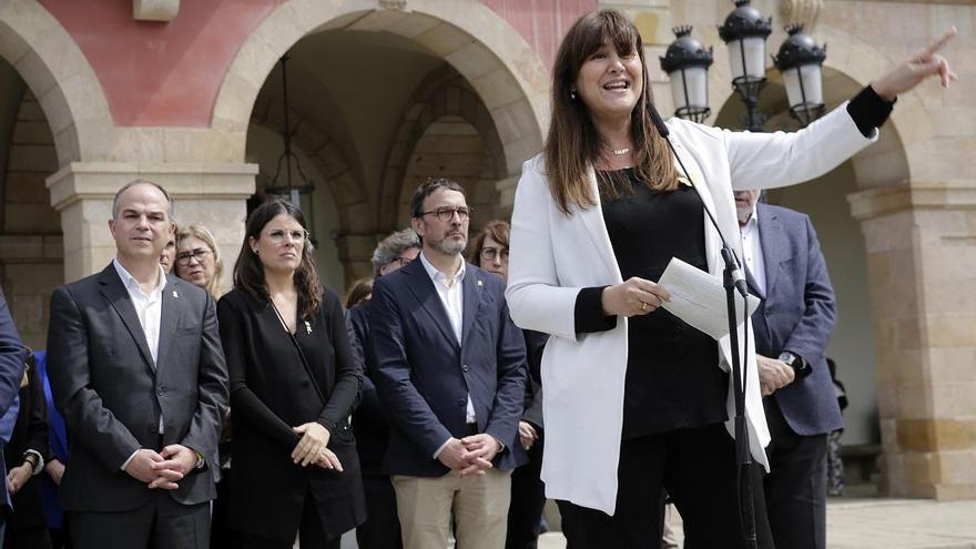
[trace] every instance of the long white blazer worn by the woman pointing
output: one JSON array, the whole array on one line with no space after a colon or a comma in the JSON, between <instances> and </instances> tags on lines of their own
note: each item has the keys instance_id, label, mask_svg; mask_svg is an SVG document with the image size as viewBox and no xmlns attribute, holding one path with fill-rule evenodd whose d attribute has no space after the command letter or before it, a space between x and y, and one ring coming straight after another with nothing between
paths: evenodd
<instances>
[{"instance_id":1,"label":"long white blazer worn by the woman pointing","mask_svg":"<svg viewBox=\"0 0 976 549\"><path fill-rule=\"evenodd\" d=\"M795 133L730 132L683 120L668 121L678 155L725 242L742 257L732 191L785 186L817 177L875 139L857 130L846 103ZM680 170L679 170L680 173ZM515 323L551 334L542 356L546 390L546 495L613 515L617 464L623 425L627 318L608 332L577 334L573 309L581 288L622 282L613 255L592 167L588 173L597 207L559 211L549 192L541 155L522 165L515 196L506 297ZM721 279L722 241L704 218L709 272ZM651 235L648 235L651 237ZM741 326L740 326L741 328ZM769 470L770 441L763 413L752 325L740 329L740 349L749 339L746 417L753 458ZM731 365L731 337L719 340L716 365ZM726 401L732 434L732 376Z\"/></svg>"}]
</instances>

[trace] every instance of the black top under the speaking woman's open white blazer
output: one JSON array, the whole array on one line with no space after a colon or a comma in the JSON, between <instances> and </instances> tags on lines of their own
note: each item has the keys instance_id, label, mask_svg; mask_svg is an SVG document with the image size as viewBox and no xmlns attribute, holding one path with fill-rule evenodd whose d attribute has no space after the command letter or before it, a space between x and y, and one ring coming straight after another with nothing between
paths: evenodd
<instances>
[{"instance_id":1,"label":"black top under the speaking woman's open white blazer","mask_svg":"<svg viewBox=\"0 0 976 549\"><path fill-rule=\"evenodd\" d=\"M653 192L627 170L632 194L601 192L603 220L623 279L658 282L678 257L702 271L704 212L694 189ZM659 308L628 322L623 436L723 421L728 376L718 367L718 344L709 335Z\"/></svg>"}]
</instances>

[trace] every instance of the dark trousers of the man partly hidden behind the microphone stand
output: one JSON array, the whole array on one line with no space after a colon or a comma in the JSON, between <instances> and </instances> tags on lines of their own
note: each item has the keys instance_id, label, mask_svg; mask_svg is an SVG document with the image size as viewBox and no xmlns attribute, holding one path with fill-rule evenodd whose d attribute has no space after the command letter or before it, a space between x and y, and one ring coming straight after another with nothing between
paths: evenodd
<instances>
[{"instance_id":1,"label":"dark trousers of the man partly hidden behind the microphone stand","mask_svg":"<svg viewBox=\"0 0 976 549\"><path fill-rule=\"evenodd\" d=\"M801 436L790 428L775 398L763 399L773 440L766 448L770 528L776 547L826 547L827 435Z\"/></svg>"}]
</instances>

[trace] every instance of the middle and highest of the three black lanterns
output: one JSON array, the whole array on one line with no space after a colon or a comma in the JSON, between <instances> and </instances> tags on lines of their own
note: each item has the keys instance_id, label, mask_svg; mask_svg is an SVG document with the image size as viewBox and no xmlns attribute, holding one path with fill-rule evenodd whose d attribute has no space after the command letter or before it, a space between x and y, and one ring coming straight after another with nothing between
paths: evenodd
<instances>
[{"instance_id":1,"label":"middle and highest of the three black lanterns","mask_svg":"<svg viewBox=\"0 0 976 549\"><path fill-rule=\"evenodd\" d=\"M766 39L773 32L773 19L750 6L750 0L734 0L735 9L719 28L719 37L729 48L732 85L748 110L746 129L762 131L764 116L759 112L759 94L766 84Z\"/></svg>"}]
</instances>

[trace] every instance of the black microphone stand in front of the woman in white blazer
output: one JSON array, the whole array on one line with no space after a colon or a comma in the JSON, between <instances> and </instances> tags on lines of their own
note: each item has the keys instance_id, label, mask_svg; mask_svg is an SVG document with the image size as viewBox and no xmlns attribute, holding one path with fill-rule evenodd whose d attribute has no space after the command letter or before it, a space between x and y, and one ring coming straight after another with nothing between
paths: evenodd
<instances>
[{"instance_id":1,"label":"black microphone stand in front of the woman in white blazer","mask_svg":"<svg viewBox=\"0 0 976 549\"><path fill-rule=\"evenodd\" d=\"M651 116L651 122L658 129L658 133L664 139L664 142L668 143L671 154L678 160L678 164L681 166L681 171L684 172L684 176L688 179L689 183L694 185L694 181L692 181L691 175L688 173L688 169L684 167L684 162L681 161L681 156L678 154L678 151L674 150L674 145L668 138L671 132L668 129L668 125L664 124L664 120L661 119L661 114L658 113L658 110L652 103L649 102L647 106ZM752 454L749 451L749 423L745 420L745 386L742 384L742 379L745 376L743 375L742 364L740 362L739 326L735 322L735 292L738 291L743 298L743 323L746 323L749 317L749 303L746 298L749 292L745 287L745 281L738 276L739 263L735 260L735 254L732 252L732 248L729 247L729 243L725 242L725 237L719 228L719 223L715 221L714 216L712 216L712 213L708 207L705 207L704 211L705 214L708 214L709 220L712 222L712 226L715 227L715 232L719 233L719 238L722 241L722 260L725 263L722 285L725 287L729 336L732 338L732 396L735 401L734 430L735 465L739 469L739 517L742 521L743 541L745 541L745 547L749 549L756 549L755 502L753 501L752 495ZM745 324L745 326L748 326L748 324ZM745 352L749 353L748 337L745 339Z\"/></svg>"}]
</instances>

